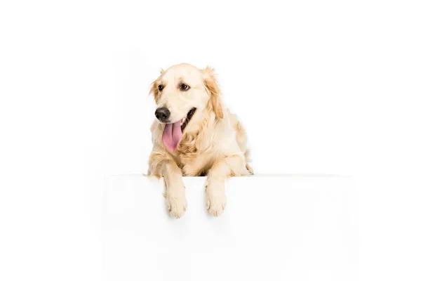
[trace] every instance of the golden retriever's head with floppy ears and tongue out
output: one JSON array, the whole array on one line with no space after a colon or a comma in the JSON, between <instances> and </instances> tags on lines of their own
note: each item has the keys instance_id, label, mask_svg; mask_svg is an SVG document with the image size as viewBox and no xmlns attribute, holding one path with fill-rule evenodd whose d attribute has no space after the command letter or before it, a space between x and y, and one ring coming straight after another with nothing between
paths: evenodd
<instances>
[{"instance_id":1,"label":"golden retriever's head with floppy ears and tongue out","mask_svg":"<svg viewBox=\"0 0 421 281\"><path fill-rule=\"evenodd\" d=\"M177 150L182 134L199 129L206 117L223 118L220 90L213 69L193 65L173 65L152 83L156 119L165 124L162 141Z\"/></svg>"}]
</instances>

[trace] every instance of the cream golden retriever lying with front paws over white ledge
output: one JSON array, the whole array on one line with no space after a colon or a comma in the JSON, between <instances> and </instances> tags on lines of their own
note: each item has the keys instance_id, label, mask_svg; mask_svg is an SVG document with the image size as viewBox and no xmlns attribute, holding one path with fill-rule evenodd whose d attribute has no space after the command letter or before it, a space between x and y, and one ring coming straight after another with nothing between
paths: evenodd
<instances>
[{"instance_id":1,"label":"cream golden retriever lying with front paws over white ledge","mask_svg":"<svg viewBox=\"0 0 421 281\"><path fill-rule=\"evenodd\" d=\"M206 207L219 216L225 209L225 179L253 174L246 131L221 100L212 68L173 65L152 85L156 111L147 175L163 177L166 207L174 218L186 211L182 176L208 176Z\"/></svg>"}]
</instances>

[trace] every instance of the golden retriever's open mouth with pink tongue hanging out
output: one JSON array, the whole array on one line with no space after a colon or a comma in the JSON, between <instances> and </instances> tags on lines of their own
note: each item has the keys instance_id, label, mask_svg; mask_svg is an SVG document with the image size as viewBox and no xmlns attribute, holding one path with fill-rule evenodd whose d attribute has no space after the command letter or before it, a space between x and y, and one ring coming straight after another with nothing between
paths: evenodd
<instances>
[{"instance_id":1,"label":"golden retriever's open mouth with pink tongue hanging out","mask_svg":"<svg viewBox=\"0 0 421 281\"><path fill-rule=\"evenodd\" d=\"M187 115L178 122L165 124L165 128L162 133L162 142L168 151L175 152L175 150L177 150L182 139L182 131L184 131L187 124L189 124L194 112L196 112L195 107L189 110Z\"/></svg>"}]
</instances>

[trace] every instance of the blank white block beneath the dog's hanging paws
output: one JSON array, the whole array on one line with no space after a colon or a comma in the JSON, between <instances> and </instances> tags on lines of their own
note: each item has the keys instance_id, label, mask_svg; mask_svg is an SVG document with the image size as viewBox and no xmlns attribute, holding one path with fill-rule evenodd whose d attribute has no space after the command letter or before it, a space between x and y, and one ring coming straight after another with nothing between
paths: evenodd
<instances>
[{"instance_id":1,"label":"blank white block beneath the dog's hanging paws","mask_svg":"<svg viewBox=\"0 0 421 281\"><path fill-rule=\"evenodd\" d=\"M356 280L354 179L230 178L222 216L208 215L206 178L183 178L187 212L171 218L163 181L105 185L105 280Z\"/></svg>"}]
</instances>

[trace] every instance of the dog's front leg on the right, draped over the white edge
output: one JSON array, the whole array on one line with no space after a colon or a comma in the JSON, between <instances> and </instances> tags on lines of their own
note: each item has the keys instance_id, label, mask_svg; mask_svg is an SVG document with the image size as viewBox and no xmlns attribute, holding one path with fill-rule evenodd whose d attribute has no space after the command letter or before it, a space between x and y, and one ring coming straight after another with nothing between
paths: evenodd
<instances>
[{"instance_id":1,"label":"dog's front leg on the right, draped over the white edge","mask_svg":"<svg viewBox=\"0 0 421 281\"><path fill-rule=\"evenodd\" d=\"M245 165L242 154L231 155L216 161L208 173L206 182L206 207L213 216L219 216L225 209L225 179L229 176L241 176Z\"/></svg>"}]
</instances>

